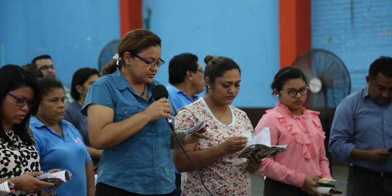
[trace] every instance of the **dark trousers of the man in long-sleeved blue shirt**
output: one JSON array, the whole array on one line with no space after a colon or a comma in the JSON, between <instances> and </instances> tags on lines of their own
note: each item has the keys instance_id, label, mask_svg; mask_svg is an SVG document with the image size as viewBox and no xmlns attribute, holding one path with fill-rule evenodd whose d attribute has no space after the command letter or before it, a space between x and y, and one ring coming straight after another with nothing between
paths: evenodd
<instances>
[{"instance_id":1,"label":"dark trousers of the man in long-sleeved blue shirt","mask_svg":"<svg viewBox=\"0 0 392 196\"><path fill-rule=\"evenodd\" d=\"M392 173L358 166L348 168L347 196L392 196Z\"/></svg>"}]
</instances>

